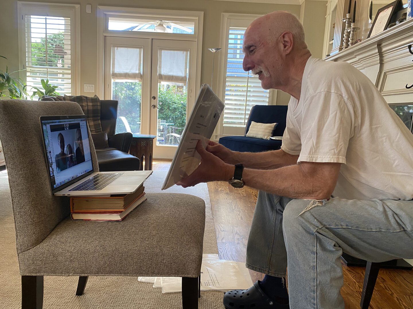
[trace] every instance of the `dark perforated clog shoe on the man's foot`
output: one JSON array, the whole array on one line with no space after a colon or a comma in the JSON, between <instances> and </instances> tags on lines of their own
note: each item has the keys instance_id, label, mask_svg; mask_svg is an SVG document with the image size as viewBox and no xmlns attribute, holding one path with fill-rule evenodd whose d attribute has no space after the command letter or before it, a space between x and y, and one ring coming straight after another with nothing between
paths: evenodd
<instances>
[{"instance_id":1,"label":"dark perforated clog shoe on the man's foot","mask_svg":"<svg viewBox=\"0 0 413 309\"><path fill-rule=\"evenodd\" d=\"M289 309L287 304L271 300L259 287L260 281L256 281L248 290L232 290L224 295L225 309Z\"/></svg>"}]
</instances>

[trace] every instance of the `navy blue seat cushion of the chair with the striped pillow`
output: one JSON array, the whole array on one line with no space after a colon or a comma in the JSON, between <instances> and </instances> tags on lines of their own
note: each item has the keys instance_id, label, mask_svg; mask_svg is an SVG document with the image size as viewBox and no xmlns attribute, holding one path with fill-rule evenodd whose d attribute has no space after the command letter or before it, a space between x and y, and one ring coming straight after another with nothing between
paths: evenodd
<instances>
[{"instance_id":1,"label":"navy blue seat cushion of the chair with the striped pillow","mask_svg":"<svg viewBox=\"0 0 413 309\"><path fill-rule=\"evenodd\" d=\"M234 151L261 152L278 150L282 142L281 140L264 140L247 136L224 136L219 139L219 143Z\"/></svg>"}]
</instances>

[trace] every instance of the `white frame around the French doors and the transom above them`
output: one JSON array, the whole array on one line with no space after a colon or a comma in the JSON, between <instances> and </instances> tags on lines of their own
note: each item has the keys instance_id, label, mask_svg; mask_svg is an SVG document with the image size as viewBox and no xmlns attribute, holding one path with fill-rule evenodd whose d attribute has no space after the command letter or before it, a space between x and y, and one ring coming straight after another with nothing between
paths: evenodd
<instances>
[{"instance_id":1,"label":"white frame around the French doors and the transom above them","mask_svg":"<svg viewBox=\"0 0 413 309\"><path fill-rule=\"evenodd\" d=\"M156 19L156 20L176 20L176 21L194 21L194 34L180 33L156 33L143 31L120 31L109 30L110 17L131 17L138 19ZM181 11L166 9L140 9L134 7L109 7L97 6L97 87L96 94L104 97L104 37L141 37L167 40L185 40L196 41L196 74L195 74L195 94L201 87L201 60L202 60L202 27L204 21L204 12L198 11ZM188 94L189 95L189 94Z\"/></svg>"}]
</instances>

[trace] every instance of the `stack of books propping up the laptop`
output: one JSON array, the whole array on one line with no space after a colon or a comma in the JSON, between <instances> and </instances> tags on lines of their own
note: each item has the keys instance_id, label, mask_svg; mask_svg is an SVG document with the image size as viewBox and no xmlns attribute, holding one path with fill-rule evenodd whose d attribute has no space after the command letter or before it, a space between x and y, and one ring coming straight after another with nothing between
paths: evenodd
<instances>
[{"instance_id":1,"label":"stack of books propping up the laptop","mask_svg":"<svg viewBox=\"0 0 413 309\"><path fill-rule=\"evenodd\" d=\"M71 197L70 212L73 220L121 221L145 200L145 187L141 185L131 194Z\"/></svg>"}]
</instances>

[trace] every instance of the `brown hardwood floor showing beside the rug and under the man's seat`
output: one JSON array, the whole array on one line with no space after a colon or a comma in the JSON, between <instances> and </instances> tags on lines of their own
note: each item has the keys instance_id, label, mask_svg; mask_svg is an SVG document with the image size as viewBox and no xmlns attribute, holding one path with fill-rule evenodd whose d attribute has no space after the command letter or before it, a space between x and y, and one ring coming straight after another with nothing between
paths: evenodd
<instances>
[{"instance_id":1,"label":"brown hardwood floor showing beside the rug and under the man's seat","mask_svg":"<svg viewBox=\"0 0 413 309\"><path fill-rule=\"evenodd\" d=\"M153 169L168 169L170 162L155 161ZM245 262L245 253L257 190L235 189L227 182L208 183L214 216L219 257ZM364 279L363 267L343 265L344 285L341 294L346 309L359 309ZM262 274L250 272L253 281ZM413 271L380 269L370 309L413 309Z\"/></svg>"}]
</instances>

